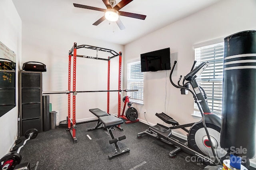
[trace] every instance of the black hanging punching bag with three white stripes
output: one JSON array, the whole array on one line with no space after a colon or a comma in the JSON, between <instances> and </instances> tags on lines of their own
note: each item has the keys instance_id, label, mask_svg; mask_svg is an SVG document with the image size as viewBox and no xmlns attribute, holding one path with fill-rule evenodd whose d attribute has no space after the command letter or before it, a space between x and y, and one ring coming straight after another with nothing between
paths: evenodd
<instances>
[{"instance_id":1,"label":"black hanging punching bag with three white stripes","mask_svg":"<svg viewBox=\"0 0 256 170\"><path fill-rule=\"evenodd\" d=\"M220 146L236 156L256 155L256 30L224 38Z\"/></svg>"}]
</instances>

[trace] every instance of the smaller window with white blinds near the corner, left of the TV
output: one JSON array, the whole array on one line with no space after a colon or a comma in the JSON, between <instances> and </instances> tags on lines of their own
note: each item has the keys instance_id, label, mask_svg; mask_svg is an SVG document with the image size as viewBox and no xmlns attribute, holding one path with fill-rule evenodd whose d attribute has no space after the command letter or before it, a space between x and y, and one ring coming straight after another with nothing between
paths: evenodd
<instances>
[{"instance_id":1,"label":"smaller window with white blinds near the corner, left of the TV","mask_svg":"<svg viewBox=\"0 0 256 170\"><path fill-rule=\"evenodd\" d=\"M143 104L143 82L144 75L141 72L140 61L128 63L127 65L127 89L137 90L134 92L127 92L130 97L129 100L139 104Z\"/></svg>"}]
</instances>

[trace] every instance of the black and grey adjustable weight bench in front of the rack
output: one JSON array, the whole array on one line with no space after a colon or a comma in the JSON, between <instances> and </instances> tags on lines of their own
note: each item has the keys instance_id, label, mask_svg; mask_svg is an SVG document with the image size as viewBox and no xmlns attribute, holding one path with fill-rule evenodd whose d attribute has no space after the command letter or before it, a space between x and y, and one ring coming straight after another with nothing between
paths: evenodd
<instances>
[{"instance_id":1,"label":"black and grey adjustable weight bench in front of the rack","mask_svg":"<svg viewBox=\"0 0 256 170\"><path fill-rule=\"evenodd\" d=\"M119 138L114 138L114 135L112 133L112 130L115 130L114 126L123 124L124 120L122 120L116 116L109 115L106 112L104 112L98 108L89 109L89 111L98 117L98 123L95 128L88 128L87 131L95 130L95 129L99 129L99 128L106 128L106 130L108 130L108 133L111 136L111 140L109 140L109 144L114 144L114 146L115 146L116 153L114 153L112 155L108 155L108 159L112 159L113 157L118 156L120 154L130 152L129 148L127 148L125 150L120 150L120 148L117 145L117 142L120 140L126 139L126 136L124 135L124 136L120 136Z\"/></svg>"}]
</instances>

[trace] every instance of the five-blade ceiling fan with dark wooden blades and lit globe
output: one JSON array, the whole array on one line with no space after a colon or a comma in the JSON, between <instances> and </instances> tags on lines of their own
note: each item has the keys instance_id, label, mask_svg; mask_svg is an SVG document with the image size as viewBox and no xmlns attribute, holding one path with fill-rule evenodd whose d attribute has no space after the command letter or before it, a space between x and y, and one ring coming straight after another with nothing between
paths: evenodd
<instances>
[{"instance_id":1,"label":"five-blade ceiling fan with dark wooden blades and lit globe","mask_svg":"<svg viewBox=\"0 0 256 170\"><path fill-rule=\"evenodd\" d=\"M126 6L127 4L132 2L133 0L121 0L118 4L116 4L116 0L102 0L102 1L105 4L105 6L107 7L106 10L102 9L102 8L96 8L93 6L86 6L86 5L81 5L81 4L74 4L74 7L105 12L105 15L102 16L96 22L94 22L92 25L97 26L98 24L100 24L101 22L103 22L104 20L107 19L109 21L116 22L116 24L118 25L120 30L123 30L125 28L124 24L121 22L121 20L119 18L120 15L131 17L131 18L137 18L140 20L145 20L145 18L146 18L146 15L119 11L121 8L123 8L124 6Z\"/></svg>"}]
</instances>

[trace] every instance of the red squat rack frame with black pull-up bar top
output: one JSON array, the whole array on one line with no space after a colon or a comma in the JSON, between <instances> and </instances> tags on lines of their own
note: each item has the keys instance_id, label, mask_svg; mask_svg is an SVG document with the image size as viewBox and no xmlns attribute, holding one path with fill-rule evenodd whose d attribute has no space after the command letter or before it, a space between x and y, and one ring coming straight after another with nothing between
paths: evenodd
<instances>
[{"instance_id":1,"label":"red squat rack frame with black pull-up bar top","mask_svg":"<svg viewBox=\"0 0 256 170\"><path fill-rule=\"evenodd\" d=\"M77 55L76 51L79 48L88 48L92 50L97 50L97 55L96 57L92 56L82 56L82 55ZM103 52L108 52L112 56L106 58L98 58L98 51L103 51ZM90 45L77 45L76 42L74 42L74 46L69 50L69 56L68 56L68 90L71 90L71 58L73 56L73 88L72 91L76 92L76 57L82 57L82 58L90 58L90 59L96 59L96 60L105 60L108 61L108 94L107 94L107 113L109 114L109 92L110 90L110 59L119 56L119 78L118 78L118 90L113 90L113 91L118 91L118 117L120 116L121 112L121 66L122 66L122 52L115 52L114 50L106 49L106 48L101 48L101 47L96 47L96 46L90 46ZM73 108L72 108L72 119L71 119L71 96L70 93L68 93L68 129L71 133L71 136L74 140L74 143L77 142L76 139L76 93L73 93L73 98L72 98L72 103L73 103ZM72 124L72 125L71 125ZM123 131L123 129L118 125L118 128Z\"/></svg>"}]
</instances>

